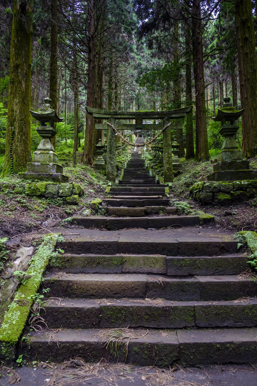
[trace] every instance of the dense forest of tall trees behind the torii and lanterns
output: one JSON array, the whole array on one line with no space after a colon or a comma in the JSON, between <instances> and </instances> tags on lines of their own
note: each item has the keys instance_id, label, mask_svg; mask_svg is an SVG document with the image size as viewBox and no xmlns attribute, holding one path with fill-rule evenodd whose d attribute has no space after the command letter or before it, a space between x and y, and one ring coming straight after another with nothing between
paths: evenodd
<instances>
[{"instance_id":1,"label":"dense forest of tall trees behind the torii and lanterns","mask_svg":"<svg viewBox=\"0 0 257 386\"><path fill-rule=\"evenodd\" d=\"M0 12L2 175L24 170L40 142L29 109L46 97L64 117L57 149L83 150L94 164L95 130L85 105L105 110L172 110L193 105L177 130L179 156L204 161L220 149L211 116L229 96L245 108L237 141L257 142L255 1L4 0ZM100 123L100 122L99 122ZM5 155L5 160L4 160Z\"/></svg>"}]
</instances>

